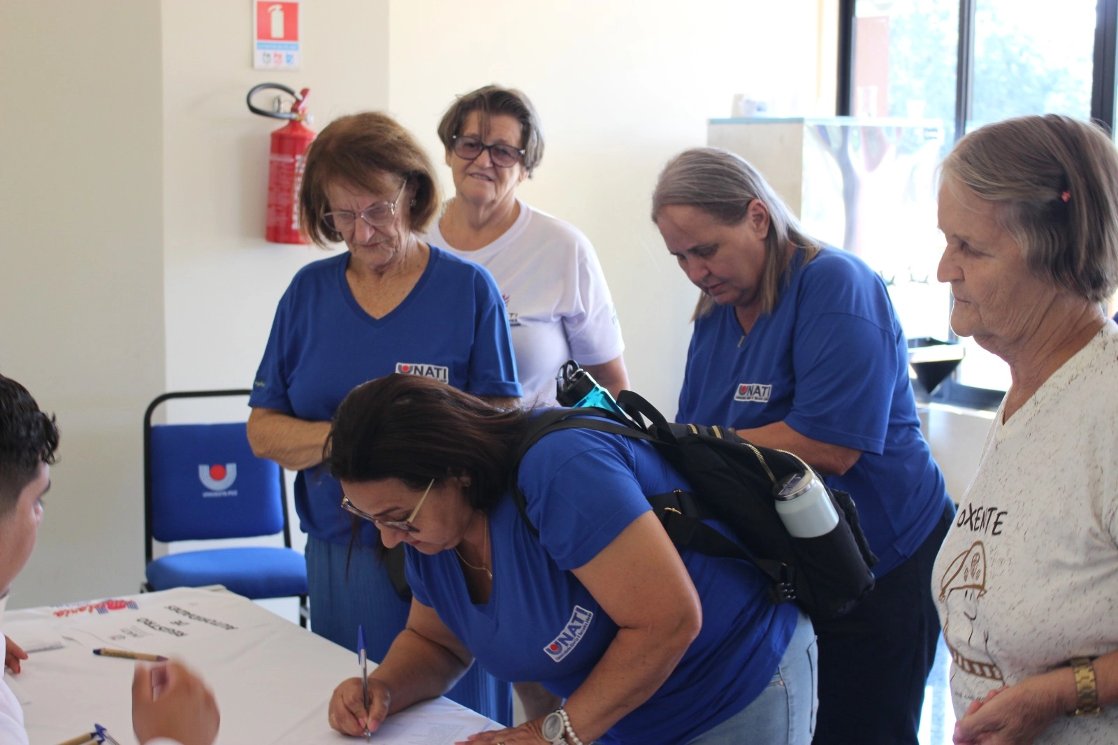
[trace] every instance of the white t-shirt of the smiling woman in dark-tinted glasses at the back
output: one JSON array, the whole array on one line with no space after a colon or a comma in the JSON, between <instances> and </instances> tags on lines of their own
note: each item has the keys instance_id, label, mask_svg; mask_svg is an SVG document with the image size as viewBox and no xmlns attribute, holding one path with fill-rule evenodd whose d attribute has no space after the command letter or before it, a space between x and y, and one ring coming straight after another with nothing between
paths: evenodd
<instances>
[{"instance_id":1,"label":"white t-shirt of the smiling woman in dark-tinted glasses at the back","mask_svg":"<svg viewBox=\"0 0 1118 745\"><path fill-rule=\"evenodd\" d=\"M477 251L448 244L437 221L423 239L493 275L509 313L524 405L555 405L563 362L601 365L619 357L625 343L589 239L568 223L517 204L512 227Z\"/></svg>"}]
</instances>

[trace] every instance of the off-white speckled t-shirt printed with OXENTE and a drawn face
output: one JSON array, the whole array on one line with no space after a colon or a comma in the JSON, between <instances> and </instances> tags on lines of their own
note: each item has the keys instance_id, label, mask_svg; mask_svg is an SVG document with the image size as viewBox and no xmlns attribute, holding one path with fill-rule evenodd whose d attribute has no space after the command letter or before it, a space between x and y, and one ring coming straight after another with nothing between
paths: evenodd
<instances>
[{"instance_id":1,"label":"off-white speckled t-shirt printed with OXENTE and a drawn face","mask_svg":"<svg viewBox=\"0 0 1118 745\"><path fill-rule=\"evenodd\" d=\"M1118 650L1114 321L1007 423L998 411L931 592L959 717L1003 685ZM1118 743L1118 706L1060 717L1036 743Z\"/></svg>"}]
</instances>

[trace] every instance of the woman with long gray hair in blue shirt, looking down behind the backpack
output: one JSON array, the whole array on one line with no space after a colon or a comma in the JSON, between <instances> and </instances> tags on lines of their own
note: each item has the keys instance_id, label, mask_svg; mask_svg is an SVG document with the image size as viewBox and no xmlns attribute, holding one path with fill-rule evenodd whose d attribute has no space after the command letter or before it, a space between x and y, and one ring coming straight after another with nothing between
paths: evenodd
<instances>
[{"instance_id":1,"label":"woman with long gray hair in blue shirt, looking down behind the backpack","mask_svg":"<svg viewBox=\"0 0 1118 745\"><path fill-rule=\"evenodd\" d=\"M920 435L908 349L885 285L805 235L749 163L688 150L652 219L702 295L678 422L798 454L858 502L877 587L817 622L815 743L917 742L939 623L928 592L954 506Z\"/></svg>"}]
</instances>

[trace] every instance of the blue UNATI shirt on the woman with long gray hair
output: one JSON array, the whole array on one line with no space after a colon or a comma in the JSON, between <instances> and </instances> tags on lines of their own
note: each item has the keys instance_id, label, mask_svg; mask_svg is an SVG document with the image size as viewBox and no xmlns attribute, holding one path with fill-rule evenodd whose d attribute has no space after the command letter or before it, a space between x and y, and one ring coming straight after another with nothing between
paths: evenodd
<instances>
[{"instance_id":1,"label":"blue UNATI shirt on the woman with long gray hair","mask_svg":"<svg viewBox=\"0 0 1118 745\"><path fill-rule=\"evenodd\" d=\"M858 504L881 577L920 546L949 503L920 434L908 343L884 283L851 253L796 253L771 313L748 334L730 305L694 323L678 422L760 427L862 451L827 477Z\"/></svg>"}]
</instances>

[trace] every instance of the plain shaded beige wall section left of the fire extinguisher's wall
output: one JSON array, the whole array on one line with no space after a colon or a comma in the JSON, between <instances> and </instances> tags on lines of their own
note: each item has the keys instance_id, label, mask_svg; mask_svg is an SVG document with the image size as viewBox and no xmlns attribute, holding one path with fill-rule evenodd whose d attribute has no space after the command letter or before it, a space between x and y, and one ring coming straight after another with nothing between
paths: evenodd
<instances>
[{"instance_id":1,"label":"plain shaded beige wall section left of the fire extinguisher's wall","mask_svg":"<svg viewBox=\"0 0 1118 745\"><path fill-rule=\"evenodd\" d=\"M11 606L134 592L140 418L163 388L160 9L0 3L0 372L61 427Z\"/></svg>"}]
</instances>

